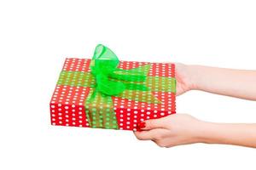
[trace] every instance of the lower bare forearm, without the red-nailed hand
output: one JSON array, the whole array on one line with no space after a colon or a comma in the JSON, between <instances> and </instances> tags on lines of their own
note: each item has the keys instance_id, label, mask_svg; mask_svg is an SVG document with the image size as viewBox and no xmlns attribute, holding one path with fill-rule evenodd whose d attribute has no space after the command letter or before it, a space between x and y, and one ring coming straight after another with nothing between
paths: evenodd
<instances>
[{"instance_id":1,"label":"lower bare forearm, without the red-nailed hand","mask_svg":"<svg viewBox=\"0 0 256 170\"><path fill-rule=\"evenodd\" d=\"M207 144L235 144L256 148L256 124L204 122L199 138Z\"/></svg>"}]
</instances>

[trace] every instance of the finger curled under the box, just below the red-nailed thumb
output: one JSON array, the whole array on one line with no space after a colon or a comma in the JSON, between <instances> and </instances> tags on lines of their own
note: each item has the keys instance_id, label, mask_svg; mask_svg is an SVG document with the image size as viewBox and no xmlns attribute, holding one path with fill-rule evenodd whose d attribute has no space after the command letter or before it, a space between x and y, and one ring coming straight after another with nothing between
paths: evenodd
<instances>
[{"instance_id":1,"label":"finger curled under the box, just below the red-nailed thumb","mask_svg":"<svg viewBox=\"0 0 256 170\"><path fill-rule=\"evenodd\" d=\"M134 134L136 138L139 140L154 140L154 139L158 139L158 137L162 133L162 130L163 129L155 128L148 131L141 131L141 132L137 131L137 132L134 132Z\"/></svg>"}]
</instances>

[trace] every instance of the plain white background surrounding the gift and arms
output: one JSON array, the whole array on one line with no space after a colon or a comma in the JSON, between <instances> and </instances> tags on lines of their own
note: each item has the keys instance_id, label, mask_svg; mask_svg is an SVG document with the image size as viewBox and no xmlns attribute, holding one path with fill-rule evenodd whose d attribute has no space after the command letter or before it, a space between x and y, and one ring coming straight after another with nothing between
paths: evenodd
<instances>
[{"instance_id":1,"label":"plain white background surrounding the gift and arms","mask_svg":"<svg viewBox=\"0 0 256 170\"><path fill-rule=\"evenodd\" d=\"M53 127L49 100L65 57L102 43L122 60L255 69L254 1L0 1L0 169L255 169L256 150L170 149L132 132ZM241 87L242 88L242 87ZM189 92L177 112L256 122L253 101Z\"/></svg>"}]
</instances>

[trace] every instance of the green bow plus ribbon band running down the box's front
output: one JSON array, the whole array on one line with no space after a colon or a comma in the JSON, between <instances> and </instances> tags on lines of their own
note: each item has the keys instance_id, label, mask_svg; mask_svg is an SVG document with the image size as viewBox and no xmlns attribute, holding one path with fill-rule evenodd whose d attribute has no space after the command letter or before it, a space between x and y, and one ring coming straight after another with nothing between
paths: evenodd
<instances>
[{"instance_id":1,"label":"green bow plus ribbon band running down the box's front","mask_svg":"<svg viewBox=\"0 0 256 170\"><path fill-rule=\"evenodd\" d=\"M90 61L91 74L96 80L95 90L85 101L85 111L89 117L90 127L118 129L111 96L119 96L125 90L149 90L142 83L135 82L146 80L150 65L131 70L119 69L118 65L119 59L111 49L101 44L96 46Z\"/></svg>"}]
</instances>

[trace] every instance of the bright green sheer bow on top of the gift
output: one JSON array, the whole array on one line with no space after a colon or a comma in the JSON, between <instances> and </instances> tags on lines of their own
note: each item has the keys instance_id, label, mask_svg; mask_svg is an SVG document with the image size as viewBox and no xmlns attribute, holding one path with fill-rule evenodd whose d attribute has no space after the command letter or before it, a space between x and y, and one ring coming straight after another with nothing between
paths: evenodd
<instances>
[{"instance_id":1,"label":"bright green sheer bow on top of the gift","mask_svg":"<svg viewBox=\"0 0 256 170\"><path fill-rule=\"evenodd\" d=\"M96 91L107 95L118 95L125 90L148 91L139 83L146 80L150 65L131 70L118 68L119 59L109 48L99 44L90 62L91 73L96 78Z\"/></svg>"}]
</instances>

